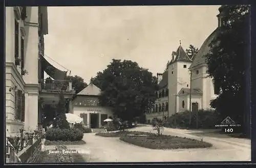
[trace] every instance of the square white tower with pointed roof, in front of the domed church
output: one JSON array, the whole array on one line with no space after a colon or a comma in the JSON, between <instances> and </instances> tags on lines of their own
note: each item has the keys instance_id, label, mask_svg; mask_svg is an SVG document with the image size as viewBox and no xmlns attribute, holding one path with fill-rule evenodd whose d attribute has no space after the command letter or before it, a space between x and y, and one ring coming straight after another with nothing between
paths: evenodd
<instances>
[{"instance_id":1,"label":"square white tower with pointed roof, in front of the domed church","mask_svg":"<svg viewBox=\"0 0 256 168\"><path fill-rule=\"evenodd\" d=\"M169 116L179 112L179 98L177 96L181 88L189 88L190 76L188 67L192 60L188 57L183 47L178 47L172 53L172 60L168 65L168 113Z\"/></svg>"}]
</instances>

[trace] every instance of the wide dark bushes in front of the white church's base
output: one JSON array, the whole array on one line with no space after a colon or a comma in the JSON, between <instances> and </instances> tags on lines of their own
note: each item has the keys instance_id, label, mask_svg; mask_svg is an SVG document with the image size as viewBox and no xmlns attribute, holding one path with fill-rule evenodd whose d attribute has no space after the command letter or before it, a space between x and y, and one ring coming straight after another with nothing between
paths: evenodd
<instances>
[{"instance_id":1,"label":"wide dark bushes in front of the white church's base","mask_svg":"<svg viewBox=\"0 0 256 168\"><path fill-rule=\"evenodd\" d=\"M215 110L201 109L198 111L198 129L214 129L215 125L220 124L223 117ZM170 116L165 127L179 127L179 128L197 128L197 113L191 112L191 125L189 126L189 111L179 112L176 114L176 126L175 115Z\"/></svg>"}]
</instances>

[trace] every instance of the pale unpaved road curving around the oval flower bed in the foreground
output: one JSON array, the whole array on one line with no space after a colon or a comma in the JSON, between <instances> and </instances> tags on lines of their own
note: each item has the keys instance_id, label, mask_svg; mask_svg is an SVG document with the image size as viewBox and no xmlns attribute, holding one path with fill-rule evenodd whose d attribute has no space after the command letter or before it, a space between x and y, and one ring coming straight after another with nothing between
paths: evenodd
<instances>
[{"instance_id":1,"label":"pale unpaved road curving around the oval flower bed in the foreground","mask_svg":"<svg viewBox=\"0 0 256 168\"><path fill-rule=\"evenodd\" d=\"M154 132L150 126L137 127L134 131ZM197 135L195 135L195 133ZM213 137L200 131L165 128L163 134L194 138L212 143L206 149L153 150L130 145L116 137L100 137L95 133L84 134L85 145L67 146L83 153L88 162L173 162L173 161L250 161L249 139L225 135ZM200 136L198 136L198 134Z\"/></svg>"}]
</instances>

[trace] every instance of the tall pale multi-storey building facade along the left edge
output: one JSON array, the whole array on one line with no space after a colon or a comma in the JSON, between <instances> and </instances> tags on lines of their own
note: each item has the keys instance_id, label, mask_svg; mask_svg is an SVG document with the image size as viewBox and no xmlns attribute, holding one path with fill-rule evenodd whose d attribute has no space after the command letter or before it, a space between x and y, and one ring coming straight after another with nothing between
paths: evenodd
<instances>
[{"instance_id":1,"label":"tall pale multi-storey building facade along the left edge","mask_svg":"<svg viewBox=\"0 0 256 168\"><path fill-rule=\"evenodd\" d=\"M48 34L47 7L6 7L6 133L36 130L39 53Z\"/></svg>"}]
</instances>

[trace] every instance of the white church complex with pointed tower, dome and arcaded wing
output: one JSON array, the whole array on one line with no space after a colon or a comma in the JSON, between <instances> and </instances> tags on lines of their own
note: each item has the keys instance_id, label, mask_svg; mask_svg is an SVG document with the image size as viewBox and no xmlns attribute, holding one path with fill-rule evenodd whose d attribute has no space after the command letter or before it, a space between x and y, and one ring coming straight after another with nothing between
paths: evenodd
<instances>
[{"instance_id":1,"label":"white church complex with pointed tower, dome and arcaded wing","mask_svg":"<svg viewBox=\"0 0 256 168\"><path fill-rule=\"evenodd\" d=\"M177 51L172 53L167 75L165 74L167 77L164 77L163 74L163 77L159 78L161 80L160 83L166 83L164 89L168 90L168 97L159 98L159 92L162 90L159 83L160 89L157 91L155 108L150 112L146 112L148 123L154 117L164 118L165 113L159 113L159 105L165 101L168 102L167 116L186 110L196 111L211 108L210 101L216 99L220 90L215 88L214 80L207 74L205 55L210 52L209 44L220 33L220 28L223 24L221 8L219 11L220 14L217 15L218 28L205 39L197 54L189 58L181 44ZM156 109L158 109L157 112Z\"/></svg>"}]
</instances>

